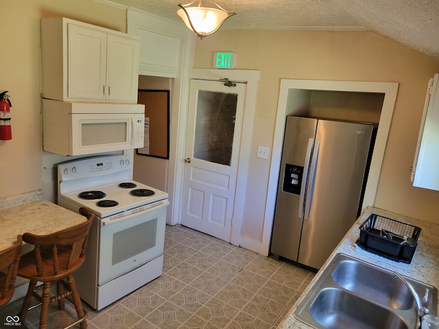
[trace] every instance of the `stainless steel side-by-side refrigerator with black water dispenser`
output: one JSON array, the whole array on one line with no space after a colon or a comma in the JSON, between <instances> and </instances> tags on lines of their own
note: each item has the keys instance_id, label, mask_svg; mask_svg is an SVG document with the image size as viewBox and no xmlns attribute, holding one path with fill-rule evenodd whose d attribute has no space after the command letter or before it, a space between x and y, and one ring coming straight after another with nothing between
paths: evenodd
<instances>
[{"instance_id":1,"label":"stainless steel side-by-side refrigerator with black water dispenser","mask_svg":"<svg viewBox=\"0 0 439 329\"><path fill-rule=\"evenodd\" d=\"M357 219L373 128L287 117L272 256L320 269Z\"/></svg>"}]
</instances>

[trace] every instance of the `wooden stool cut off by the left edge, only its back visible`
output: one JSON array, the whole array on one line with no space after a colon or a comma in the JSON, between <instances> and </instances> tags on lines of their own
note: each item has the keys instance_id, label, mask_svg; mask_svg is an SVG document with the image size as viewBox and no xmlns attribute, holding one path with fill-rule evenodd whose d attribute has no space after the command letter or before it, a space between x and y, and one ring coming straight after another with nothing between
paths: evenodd
<instances>
[{"instance_id":1,"label":"wooden stool cut off by the left edge, only its back visible","mask_svg":"<svg viewBox=\"0 0 439 329\"><path fill-rule=\"evenodd\" d=\"M19 269L21 241L21 235L17 236L16 245L0 253L0 306L8 303L14 295L16 272Z\"/></svg>"}]
</instances>

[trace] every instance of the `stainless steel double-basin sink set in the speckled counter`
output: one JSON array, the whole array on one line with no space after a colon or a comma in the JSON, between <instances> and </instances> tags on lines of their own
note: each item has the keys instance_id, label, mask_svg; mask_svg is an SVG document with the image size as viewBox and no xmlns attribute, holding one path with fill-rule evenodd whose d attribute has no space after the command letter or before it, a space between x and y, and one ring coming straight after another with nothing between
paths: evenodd
<instances>
[{"instance_id":1,"label":"stainless steel double-basin sink set in the speckled counter","mask_svg":"<svg viewBox=\"0 0 439 329\"><path fill-rule=\"evenodd\" d=\"M438 290L405 278L436 315ZM361 260L337 254L294 312L313 328L414 329L416 302L394 273Z\"/></svg>"}]
</instances>

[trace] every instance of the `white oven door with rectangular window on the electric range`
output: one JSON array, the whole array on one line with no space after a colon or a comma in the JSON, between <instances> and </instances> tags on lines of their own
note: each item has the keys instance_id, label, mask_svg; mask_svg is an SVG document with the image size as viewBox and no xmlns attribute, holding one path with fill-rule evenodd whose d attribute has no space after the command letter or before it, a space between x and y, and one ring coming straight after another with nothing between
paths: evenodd
<instances>
[{"instance_id":1,"label":"white oven door with rectangular window on the electric range","mask_svg":"<svg viewBox=\"0 0 439 329\"><path fill-rule=\"evenodd\" d=\"M104 284L163 254L165 226L166 206L138 212L101 226L98 284Z\"/></svg>"}]
</instances>

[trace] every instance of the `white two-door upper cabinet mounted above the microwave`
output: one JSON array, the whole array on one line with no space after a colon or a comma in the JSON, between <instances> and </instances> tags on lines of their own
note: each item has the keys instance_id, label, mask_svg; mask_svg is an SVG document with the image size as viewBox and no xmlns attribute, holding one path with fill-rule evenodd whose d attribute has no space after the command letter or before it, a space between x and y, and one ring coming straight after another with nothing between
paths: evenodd
<instances>
[{"instance_id":1,"label":"white two-door upper cabinet mounted above the microwave","mask_svg":"<svg viewBox=\"0 0 439 329\"><path fill-rule=\"evenodd\" d=\"M43 97L137 103L139 39L71 19L42 19Z\"/></svg>"}]
</instances>

